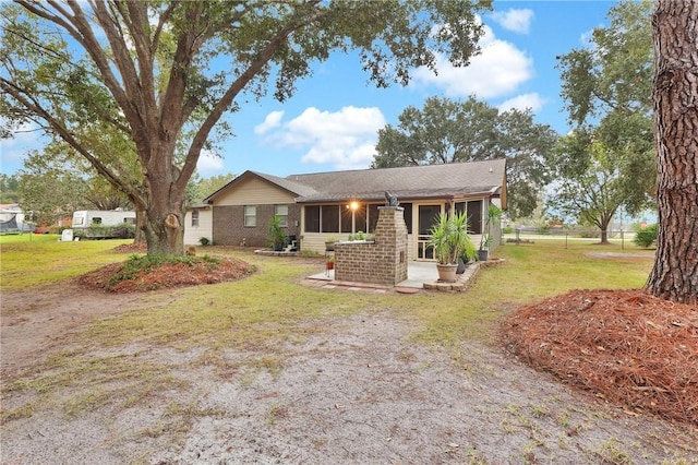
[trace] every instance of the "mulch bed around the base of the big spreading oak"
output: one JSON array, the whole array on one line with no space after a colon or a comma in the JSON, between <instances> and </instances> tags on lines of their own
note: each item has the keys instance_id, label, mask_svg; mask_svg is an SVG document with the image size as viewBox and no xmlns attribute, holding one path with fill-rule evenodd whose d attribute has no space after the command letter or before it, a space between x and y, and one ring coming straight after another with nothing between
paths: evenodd
<instances>
[{"instance_id":1,"label":"mulch bed around the base of the big spreading oak","mask_svg":"<svg viewBox=\"0 0 698 465\"><path fill-rule=\"evenodd\" d=\"M142 247L127 245L120 248L124 250L119 253L137 253ZM80 276L77 281L84 286L111 293L139 293L238 281L256 271L254 265L238 259L215 259L213 262L202 258L191 258L186 262L153 265L127 279L115 282L115 276L124 273L127 263L103 266Z\"/></svg>"}]
</instances>

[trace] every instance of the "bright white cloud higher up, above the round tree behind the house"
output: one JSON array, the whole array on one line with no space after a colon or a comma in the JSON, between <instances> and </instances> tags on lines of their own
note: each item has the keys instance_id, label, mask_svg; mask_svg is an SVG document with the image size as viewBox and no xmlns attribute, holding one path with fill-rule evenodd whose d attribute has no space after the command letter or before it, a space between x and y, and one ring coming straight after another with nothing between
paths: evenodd
<instances>
[{"instance_id":1,"label":"bright white cloud higher up, above the round tree behind the house","mask_svg":"<svg viewBox=\"0 0 698 465\"><path fill-rule=\"evenodd\" d=\"M492 28L484 26L485 34L480 40L482 51L472 57L465 68L453 67L446 57L438 56L435 75L426 68L414 72L417 85L434 85L448 97L478 98L501 97L533 78L533 60L513 44L500 40Z\"/></svg>"}]
</instances>

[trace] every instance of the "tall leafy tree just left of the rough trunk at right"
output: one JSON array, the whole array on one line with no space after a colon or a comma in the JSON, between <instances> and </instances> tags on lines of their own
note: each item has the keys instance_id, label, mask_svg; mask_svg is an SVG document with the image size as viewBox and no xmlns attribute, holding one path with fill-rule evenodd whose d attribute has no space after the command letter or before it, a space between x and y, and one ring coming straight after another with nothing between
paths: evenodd
<instances>
[{"instance_id":1,"label":"tall leafy tree just left of the rough trunk at right","mask_svg":"<svg viewBox=\"0 0 698 465\"><path fill-rule=\"evenodd\" d=\"M614 158L615 190L631 215L653 206L652 43L649 0L618 2L590 45L558 57L562 97L577 139L555 163L558 178L593 170L599 144ZM586 144L583 144L586 141ZM595 148L594 148L595 145Z\"/></svg>"}]
</instances>

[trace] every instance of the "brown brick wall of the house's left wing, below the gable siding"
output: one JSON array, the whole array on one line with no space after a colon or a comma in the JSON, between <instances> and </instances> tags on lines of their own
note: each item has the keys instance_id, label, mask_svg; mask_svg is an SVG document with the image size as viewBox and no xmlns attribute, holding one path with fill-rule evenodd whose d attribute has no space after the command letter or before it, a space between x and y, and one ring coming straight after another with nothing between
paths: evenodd
<instances>
[{"instance_id":1,"label":"brown brick wall of the house's left wing, below the gable siding","mask_svg":"<svg viewBox=\"0 0 698 465\"><path fill-rule=\"evenodd\" d=\"M256 205L257 225L245 227L244 206L214 206L213 241L216 246L240 246L244 239L248 247L266 247L269 241L269 222L274 216L274 205ZM301 235L301 206L288 204L288 226L284 228L287 236ZM297 226L298 225L298 226Z\"/></svg>"}]
</instances>

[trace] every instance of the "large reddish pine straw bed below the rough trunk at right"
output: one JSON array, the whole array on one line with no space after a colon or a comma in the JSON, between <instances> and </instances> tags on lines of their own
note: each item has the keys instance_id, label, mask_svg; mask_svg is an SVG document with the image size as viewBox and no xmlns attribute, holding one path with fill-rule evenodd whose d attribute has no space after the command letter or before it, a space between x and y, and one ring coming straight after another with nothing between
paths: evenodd
<instances>
[{"instance_id":1,"label":"large reddish pine straw bed below the rough trunk at right","mask_svg":"<svg viewBox=\"0 0 698 465\"><path fill-rule=\"evenodd\" d=\"M505 347L626 412L698 425L698 308L643 290L574 290L516 310Z\"/></svg>"}]
</instances>

